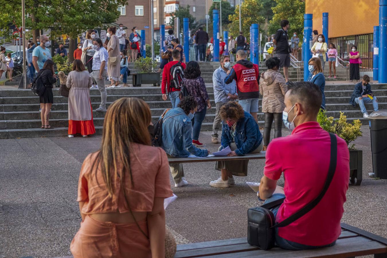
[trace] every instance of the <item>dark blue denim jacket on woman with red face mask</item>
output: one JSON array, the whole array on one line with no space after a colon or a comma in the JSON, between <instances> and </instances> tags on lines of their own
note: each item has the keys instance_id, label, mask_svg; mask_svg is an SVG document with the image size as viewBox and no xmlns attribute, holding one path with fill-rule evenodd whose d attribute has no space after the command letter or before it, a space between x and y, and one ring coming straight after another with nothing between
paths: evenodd
<instances>
[{"instance_id":1,"label":"dark blue denim jacket on woman with red face mask","mask_svg":"<svg viewBox=\"0 0 387 258\"><path fill-rule=\"evenodd\" d=\"M163 128L164 130L164 128ZM233 141L231 137L231 129L222 122L222 148L226 148ZM236 122L234 140L236 147L235 153L239 156L249 154L257 149L262 142L262 134L259 131L259 126L255 122L253 116L245 111L245 117Z\"/></svg>"}]
</instances>

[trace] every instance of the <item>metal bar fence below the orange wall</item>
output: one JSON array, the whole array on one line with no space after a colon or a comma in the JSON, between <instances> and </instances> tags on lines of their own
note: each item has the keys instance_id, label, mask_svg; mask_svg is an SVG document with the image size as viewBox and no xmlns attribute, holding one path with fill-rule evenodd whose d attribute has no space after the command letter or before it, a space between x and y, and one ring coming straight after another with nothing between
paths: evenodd
<instances>
[{"instance_id":1,"label":"metal bar fence below the orange wall","mask_svg":"<svg viewBox=\"0 0 387 258\"><path fill-rule=\"evenodd\" d=\"M363 64L360 65L360 71L372 71L373 66L373 34L361 34L354 36L344 36L339 38L329 38L329 44L334 43L336 45L337 53L339 57L344 61L349 61L349 52L352 51L352 46L355 45L360 52L361 60Z\"/></svg>"}]
</instances>

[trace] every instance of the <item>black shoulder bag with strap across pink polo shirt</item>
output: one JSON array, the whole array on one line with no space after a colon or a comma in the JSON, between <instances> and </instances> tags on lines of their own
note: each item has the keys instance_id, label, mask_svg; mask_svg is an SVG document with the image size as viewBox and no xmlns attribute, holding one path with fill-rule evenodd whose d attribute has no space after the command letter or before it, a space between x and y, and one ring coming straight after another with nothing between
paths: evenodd
<instances>
[{"instance_id":1,"label":"black shoulder bag with strap across pink polo shirt","mask_svg":"<svg viewBox=\"0 0 387 258\"><path fill-rule=\"evenodd\" d=\"M260 249L268 250L274 247L275 244L275 228L285 227L289 224L300 219L303 215L312 210L322 199L327 192L330 183L332 182L336 164L337 164L337 139L336 135L329 133L330 135L330 163L327 179L325 180L324 187L320 194L312 200L312 202L305 205L298 210L295 214L284 219L279 223L275 223L275 217L270 210L283 203L285 198L279 199L275 202L266 203L260 207L250 208L247 211L247 242L252 246L257 246Z\"/></svg>"}]
</instances>

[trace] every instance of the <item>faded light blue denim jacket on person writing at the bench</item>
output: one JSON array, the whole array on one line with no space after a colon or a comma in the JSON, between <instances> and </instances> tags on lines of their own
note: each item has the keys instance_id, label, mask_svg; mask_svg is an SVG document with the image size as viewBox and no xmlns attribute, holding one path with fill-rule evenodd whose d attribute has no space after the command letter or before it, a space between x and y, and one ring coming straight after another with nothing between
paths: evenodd
<instances>
[{"instance_id":1,"label":"faded light blue denim jacket on person writing at the bench","mask_svg":"<svg viewBox=\"0 0 387 258\"><path fill-rule=\"evenodd\" d=\"M192 122L182 108L171 109L165 114L161 142L161 147L173 157L208 155L208 150L198 149L192 144Z\"/></svg>"}]
</instances>

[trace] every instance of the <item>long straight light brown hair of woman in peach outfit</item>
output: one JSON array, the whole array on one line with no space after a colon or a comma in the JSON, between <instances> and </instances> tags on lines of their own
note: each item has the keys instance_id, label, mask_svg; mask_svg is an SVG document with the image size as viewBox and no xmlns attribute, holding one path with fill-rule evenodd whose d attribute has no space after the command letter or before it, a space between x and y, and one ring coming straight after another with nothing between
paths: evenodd
<instances>
[{"instance_id":1,"label":"long straight light brown hair of woman in peach outfit","mask_svg":"<svg viewBox=\"0 0 387 258\"><path fill-rule=\"evenodd\" d=\"M110 197L113 196L112 179L120 178L123 182L125 173L129 173L129 182L133 185L130 169L131 144L151 145L148 131L150 123L151 109L142 99L123 97L108 108L103 123L101 149L97 153L92 171L94 165L101 168Z\"/></svg>"}]
</instances>

